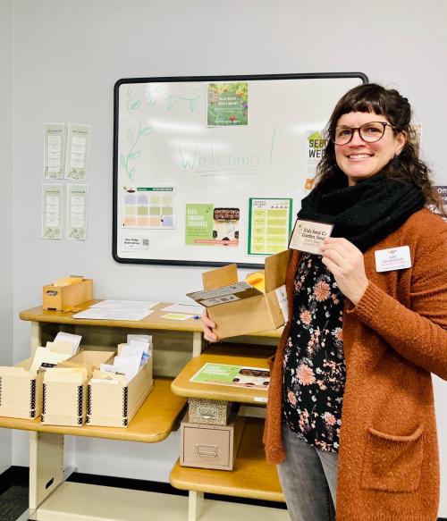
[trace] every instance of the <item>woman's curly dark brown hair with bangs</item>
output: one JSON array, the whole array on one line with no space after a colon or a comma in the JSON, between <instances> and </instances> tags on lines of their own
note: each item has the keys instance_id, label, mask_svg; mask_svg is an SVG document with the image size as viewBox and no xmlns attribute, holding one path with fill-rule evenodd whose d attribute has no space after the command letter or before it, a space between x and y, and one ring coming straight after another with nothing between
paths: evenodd
<instances>
[{"instance_id":1,"label":"woman's curly dark brown hair with bangs","mask_svg":"<svg viewBox=\"0 0 447 521\"><path fill-rule=\"evenodd\" d=\"M426 197L426 204L436 207L440 214L446 216L443 201L434 188L432 172L424 161L421 161L415 149L416 132L411 125L411 105L406 97L394 88L384 88L375 83L366 83L351 88L335 105L333 113L325 128L326 144L322 159L316 170L316 187L323 188L330 181L344 181L345 174L335 160L333 136L338 120L343 114L350 112L375 113L383 115L393 127L394 133L404 132L407 136L401 154L392 158L382 171L394 181L412 183L419 187Z\"/></svg>"}]
</instances>

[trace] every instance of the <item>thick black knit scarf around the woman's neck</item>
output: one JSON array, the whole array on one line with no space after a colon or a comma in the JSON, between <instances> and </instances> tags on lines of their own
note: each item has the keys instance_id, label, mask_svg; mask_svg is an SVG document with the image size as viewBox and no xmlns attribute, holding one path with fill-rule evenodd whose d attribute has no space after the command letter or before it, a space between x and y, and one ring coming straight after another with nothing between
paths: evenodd
<instances>
[{"instance_id":1,"label":"thick black knit scarf around the woman's neck","mask_svg":"<svg viewBox=\"0 0 447 521\"><path fill-rule=\"evenodd\" d=\"M426 204L421 189L379 173L355 186L341 181L317 185L301 201L299 219L333 224L332 237L344 237L365 251Z\"/></svg>"}]
</instances>

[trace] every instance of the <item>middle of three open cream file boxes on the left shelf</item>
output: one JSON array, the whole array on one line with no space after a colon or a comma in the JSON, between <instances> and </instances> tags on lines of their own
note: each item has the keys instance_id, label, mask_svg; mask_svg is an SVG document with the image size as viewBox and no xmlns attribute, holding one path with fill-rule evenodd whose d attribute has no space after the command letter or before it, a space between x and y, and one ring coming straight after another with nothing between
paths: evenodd
<instances>
[{"instance_id":1,"label":"middle of three open cream file boxes on the left shelf","mask_svg":"<svg viewBox=\"0 0 447 521\"><path fill-rule=\"evenodd\" d=\"M54 369L44 372L41 421L50 425L81 426L87 416L87 384L89 373L100 364L107 364L114 351L81 351ZM72 374L71 369L80 369ZM59 372L59 373L58 373Z\"/></svg>"}]
</instances>

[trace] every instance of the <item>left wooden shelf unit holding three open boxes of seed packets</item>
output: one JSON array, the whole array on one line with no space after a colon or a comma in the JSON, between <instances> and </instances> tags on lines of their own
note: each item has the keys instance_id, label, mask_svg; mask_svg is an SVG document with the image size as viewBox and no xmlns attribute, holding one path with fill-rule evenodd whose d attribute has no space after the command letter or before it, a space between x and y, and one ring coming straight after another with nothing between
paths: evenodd
<instances>
[{"instance_id":1,"label":"left wooden shelf unit holding three open boxes of seed packets","mask_svg":"<svg viewBox=\"0 0 447 521\"><path fill-rule=\"evenodd\" d=\"M80 310L97 302L100 302L100 300L86 302L80 306ZM126 334L130 330L136 333L151 333L155 337L155 387L127 428L95 427L91 425L58 427L42 425L38 419L0 418L0 427L30 431L30 517L34 518L33 516L38 515L38 519L46 519L44 510L38 508L39 506L45 508L44 501L64 481L63 436L65 434L150 443L164 440L177 424L182 408L186 403L185 397L188 395L182 395L181 392L176 395L170 391L173 377L181 373L181 369L188 364L191 357L200 355L204 340L200 320L190 318L185 321L173 321L162 318L162 315L168 313L163 308L169 305L169 303L158 304L154 307L153 313L138 322L75 319L72 318L72 311L46 311L42 307L27 309L19 315L22 320L31 323L31 355L34 354L38 346L45 345L46 340L54 340L55 334L59 331L82 335L81 346L83 349L115 349L118 343L125 341ZM185 341L185 333L187 337L190 333L190 337L188 337L190 340L187 338ZM282 329L279 329L249 336L262 337L273 342L281 336L281 333ZM237 349L237 346L235 346L235 349ZM256 357L248 357L247 362L253 360L253 358ZM260 366L260 364L262 364L262 361L257 359L256 364L251 363L250 365ZM191 368L193 367L191 366ZM179 382L181 382L181 379ZM174 388L177 390L175 386ZM245 396L249 395L245 393ZM227 398L220 395L220 399ZM242 394L233 396L232 400L247 401L248 403L256 402L254 396L244 399ZM239 490L234 487L234 495L240 495ZM197 509L195 509L197 494L191 496L193 493L190 492L190 519L196 518L197 514ZM48 501L46 501L46 504L48 504ZM39 515L38 512L40 511L41 514ZM56 517L48 517L48 519L50 518L55 519ZM72 519L70 516L63 517L62 514L60 518ZM59 521L59 517L57 519Z\"/></svg>"}]
</instances>

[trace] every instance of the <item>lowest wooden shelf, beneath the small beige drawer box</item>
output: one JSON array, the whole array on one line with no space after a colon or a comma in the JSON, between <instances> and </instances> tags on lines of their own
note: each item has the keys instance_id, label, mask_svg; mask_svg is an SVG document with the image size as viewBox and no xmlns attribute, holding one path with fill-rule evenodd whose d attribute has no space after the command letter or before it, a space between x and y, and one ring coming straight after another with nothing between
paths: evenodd
<instances>
[{"instance_id":1,"label":"lowest wooden shelf, beneath the small beige drawer box","mask_svg":"<svg viewBox=\"0 0 447 521\"><path fill-rule=\"evenodd\" d=\"M170 483L186 491L208 492L255 500L284 501L276 467L266 462L262 445L264 422L246 418L232 471L173 467Z\"/></svg>"}]
</instances>

